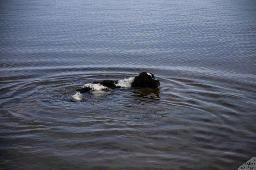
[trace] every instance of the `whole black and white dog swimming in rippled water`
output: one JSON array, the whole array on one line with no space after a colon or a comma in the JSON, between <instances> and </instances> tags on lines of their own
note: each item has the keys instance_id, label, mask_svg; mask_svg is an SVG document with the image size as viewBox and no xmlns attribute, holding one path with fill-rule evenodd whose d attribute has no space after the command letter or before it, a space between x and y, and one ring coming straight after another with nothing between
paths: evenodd
<instances>
[{"instance_id":1,"label":"whole black and white dog swimming in rippled water","mask_svg":"<svg viewBox=\"0 0 256 170\"><path fill-rule=\"evenodd\" d=\"M83 85L81 89L77 89L77 93L72 96L75 100L82 100L84 92L100 91L106 89L113 89L117 87L149 87L157 88L160 86L160 81L155 79L152 73L146 71L141 72L139 76L124 78L123 80L102 80L94 81Z\"/></svg>"}]
</instances>

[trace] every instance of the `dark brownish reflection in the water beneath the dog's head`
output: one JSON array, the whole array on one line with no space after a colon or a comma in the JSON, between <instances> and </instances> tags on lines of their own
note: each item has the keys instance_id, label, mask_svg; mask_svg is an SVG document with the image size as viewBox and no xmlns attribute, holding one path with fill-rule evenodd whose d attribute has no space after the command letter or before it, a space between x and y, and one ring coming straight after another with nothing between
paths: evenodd
<instances>
[{"instance_id":1,"label":"dark brownish reflection in the water beneath the dog's head","mask_svg":"<svg viewBox=\"0 0 256 170\"><path fill-rule=\"evenodd\" d=\"M142 89L142 90L134 90L132 91L136 97L144 97L148 99L155 99L155 100L160 100L159 96L159 88L156 89Z\"/></svg>"}]
</instances>

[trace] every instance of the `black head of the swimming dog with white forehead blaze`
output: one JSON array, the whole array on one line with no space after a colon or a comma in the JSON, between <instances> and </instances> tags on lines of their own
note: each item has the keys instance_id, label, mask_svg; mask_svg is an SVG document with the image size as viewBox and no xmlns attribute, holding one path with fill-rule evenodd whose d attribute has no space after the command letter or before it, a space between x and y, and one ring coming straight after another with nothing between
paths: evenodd
<instances>
[{"instance_id":1,"label":"black head of the swimming dog with white forehead blaze","mask_svg":"<svg viewBox=\"0 0 256 170\"><path fill-rule=\"evenodd\" d=\"M140 73L139 76L136 76L132 82L132 87L157 88L159 86L160 81L155 79L155 76L152 73L147 73L146 71Z\"/></svg>"}]
</instances>

